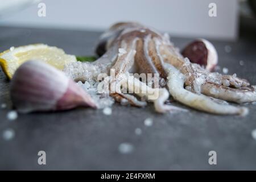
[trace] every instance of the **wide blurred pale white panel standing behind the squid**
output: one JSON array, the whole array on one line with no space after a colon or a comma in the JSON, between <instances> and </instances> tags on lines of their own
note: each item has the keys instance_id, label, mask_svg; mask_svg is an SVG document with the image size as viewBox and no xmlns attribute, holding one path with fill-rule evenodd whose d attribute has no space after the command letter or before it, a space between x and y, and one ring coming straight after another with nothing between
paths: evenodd
<instances>
[{"instance_id":1,"label":"wide blurred pale white panel standing behind the squid","mask_svg":"<svg viewBox=\"0 0 256 182\"><path fill-rule=\"evenodd\" d=\"M43 0L42 3L46 5L45 17L39 17L38 5L33 5L0 20L0 24L102 31L115 22L137 21L170 32L171 36L237 37L237 0ZM210 3L216 4L216 17L209 16Z\"/></svg>"}]
</instances>

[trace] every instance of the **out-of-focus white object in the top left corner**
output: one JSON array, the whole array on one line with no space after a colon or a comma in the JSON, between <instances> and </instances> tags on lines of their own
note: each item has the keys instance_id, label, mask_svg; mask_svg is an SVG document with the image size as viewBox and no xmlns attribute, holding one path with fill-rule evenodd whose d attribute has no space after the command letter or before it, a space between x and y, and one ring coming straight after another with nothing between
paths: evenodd
<instances>
[{"instance_id":1,"label":"out-of-focus white object in the top left corner","mask_svg":"<svg viewBox=\"0 0 256 182\"><path fill-rule=\"evenodd\" d=\"M1 0L0 2L0 16L14 13L24 9L32 3L40 2L41 0Z\"/></svg>"}]
</instances>

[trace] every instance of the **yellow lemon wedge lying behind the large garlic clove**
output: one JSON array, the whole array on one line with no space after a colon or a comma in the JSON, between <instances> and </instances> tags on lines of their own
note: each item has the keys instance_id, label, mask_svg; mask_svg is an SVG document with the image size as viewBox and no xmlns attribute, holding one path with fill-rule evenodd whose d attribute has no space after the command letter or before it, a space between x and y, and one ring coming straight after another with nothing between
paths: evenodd
<instances>
[{"instance_id":1,"label":"yellow lemon wedge lying behind the large garlic clove","mask_svg":"<svg viewBox=\"0 0 256 182\"><path fill-rule=\"evenodd\" d=\"M60 70L63 70L65 64L77 61L76 56L67 55L63 49L50 47L46 44L11 47L9 50L0 53L0 65L3 72L10 79L16 69L28 60L44 61Z\"/></svg>"}]
</instances>

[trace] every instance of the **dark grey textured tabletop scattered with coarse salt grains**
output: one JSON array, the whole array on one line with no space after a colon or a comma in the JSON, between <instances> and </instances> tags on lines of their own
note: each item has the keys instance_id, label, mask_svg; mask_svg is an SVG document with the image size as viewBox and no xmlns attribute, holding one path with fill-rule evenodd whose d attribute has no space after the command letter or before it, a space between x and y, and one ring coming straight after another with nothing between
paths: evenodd
<instances>
[{"instance_id":1,"label":"dark grey textured tabletop scattered with coarse salt grains","mask_svg":"<svg viewBox=\"0 0 256 182\"><path fill-rule=\"evenodd\" d=\"M0 27L0 51L11 46L47 43L75 55L91 55L99 33ZM189 40L174 38L177 47ZM254 40L214 42L220 66L256 84ZM224 51L225 45L232 52ZM241 66L239 61L245 61ZM101 110L75 109L59 113L19 115L6 119L10 110L9 82L0 71L0 169L256 169L256 105L248 105L247 117L189 113L156 114L145 109L114 105L113 114ZM144 119L153 118L151 127ZM135 135L139 127L142 135ZM7 128L15 137L6 141ZM120 143L134 145L131 154L118 151ZM47 165L38 165L38 151L47 154ZM208 152L217 152L217 165L208 164Z\"/></svg>"}]
</instances>

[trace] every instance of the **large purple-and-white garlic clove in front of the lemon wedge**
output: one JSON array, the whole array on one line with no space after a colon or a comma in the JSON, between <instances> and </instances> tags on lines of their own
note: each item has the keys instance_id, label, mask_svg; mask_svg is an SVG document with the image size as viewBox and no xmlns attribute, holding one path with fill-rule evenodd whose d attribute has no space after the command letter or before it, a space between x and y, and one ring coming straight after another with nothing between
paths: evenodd
<instances>
[{"instance_id":1,"label":"large purple-and-white garlic clove in front of the lemon wedge","mask_svg":"<svg viewBox=\"0 0 256 182\"><path fill-rule=\"evenodd\" d=\"M27 61L14 73L11 101L20 113L68 110L77 106L96 108L82 88L56 68L42 61Z\"/></svg>"}]
</instances>

